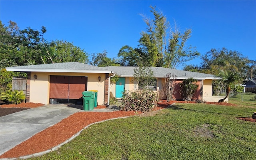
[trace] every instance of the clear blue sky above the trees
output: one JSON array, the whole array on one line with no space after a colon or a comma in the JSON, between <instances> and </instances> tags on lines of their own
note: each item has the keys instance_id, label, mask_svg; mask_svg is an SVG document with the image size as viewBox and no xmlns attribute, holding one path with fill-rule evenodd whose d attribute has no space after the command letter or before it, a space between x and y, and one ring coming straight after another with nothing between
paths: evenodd
<instances>
[{"instance_id":1,"label":"clear blue sky above the trees","mask_svg":"<svg viewBox=\"0 0 256 160\"><path fill-rule=\"evenodd\" d=\"M106 50L117 58L124 45L136 47L146 24L139 14L153 18L156 6L180 31L192 29L187 45L205 54L226 47L256 60L256 1L0 1L0 20L20 29L48 30L46 40L73 42L89 55ZM186 64L199 64L200 59ZM178 67L182 69L182 66Z\"/></svg>"}]
</instances>

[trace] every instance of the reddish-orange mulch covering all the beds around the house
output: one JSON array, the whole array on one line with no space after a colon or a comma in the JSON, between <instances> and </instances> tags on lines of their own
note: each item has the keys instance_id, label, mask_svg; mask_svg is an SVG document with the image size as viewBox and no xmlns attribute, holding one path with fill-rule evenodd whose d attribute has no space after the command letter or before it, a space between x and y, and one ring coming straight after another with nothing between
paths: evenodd
<instances>
[{"instance_id":1,"label":"reddish-orange mulch covering all the beds around the house","mask_svg":"<svg viewBox=\"0 0 256 160\"><path fill-rule=\"evenodd\" d=\"M185 101L171 101L171 102L159 102L159 106L154 109L160 110L164 109L170 104L176 103L195 103L195 102L185 102ZM234 104L229 103L208 103L207 104L221 104L228 106L235 106ZM24 108L35 108L43 106L44 104L34 104L34 103L22 103L18 105L1 105L1 108L11 108L11 107L24 107ZM105 108L105 106L97 106L97 108ZM118 118L124 116L134 116L141 114L142 112L134 111L115 111L115 112L77 112L68 118L63 119L59 123L46 128L42 132L32 136L30 139L22 142L21 144L15 146L11 150L5 152L0 156L0 158L14 158L20 156L26 156L42 151L49 150L62 142L65 142L74 134L82 130L85 126L92 124L94 122L99 122L102 120L107 120L110 118ZM72 124L72 125L70 125ZM65 128L65 129L63 129Z\"/></svg>"}]
</instances>

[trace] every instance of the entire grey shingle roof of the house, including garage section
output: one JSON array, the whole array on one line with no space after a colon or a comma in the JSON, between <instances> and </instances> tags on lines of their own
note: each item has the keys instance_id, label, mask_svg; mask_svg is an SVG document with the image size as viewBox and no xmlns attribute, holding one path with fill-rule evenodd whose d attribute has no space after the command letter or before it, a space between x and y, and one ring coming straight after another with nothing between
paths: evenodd
<instances>
[{"instance_id":1,"label":"entire grey shingle roof of the house, including garage section","mask_svg":"<svg viewBox=\"0 0 256 160\"><path fill-rule=\"evenodd\" d=\"M16 72L71 72L71 73L109 73L116 74L120 77L132 77L134 75L135 66L108 66L97 67L80 62L64 62L53 64L38 64L29 66L6 67L7 71ZM221 79L212 74L204 74L198 72L190 72L185 70L176 70L164 67L151 67L156 78L164 78L166 74L175 74L176 79L194 78L198 80L204 79Z\"/></svg>"}]
</instances>

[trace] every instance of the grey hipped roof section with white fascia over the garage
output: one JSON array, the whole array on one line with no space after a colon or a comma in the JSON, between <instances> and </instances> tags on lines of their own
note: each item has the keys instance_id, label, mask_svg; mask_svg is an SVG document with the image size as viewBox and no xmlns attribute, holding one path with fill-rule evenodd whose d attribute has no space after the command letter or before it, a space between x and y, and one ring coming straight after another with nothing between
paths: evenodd
<instances>
[{"instance_id":1,"label":"grey hipped roof section with white fascia over the garage","mask_svg":"<svg viewBox=\"0 0 256 160\"><path fill-rule=\"evenodd\" d=\"M80 62L64 62L53 64L38 64L29 66L6 67L7 71L16 72L72 72L72 73L113 73L112 70L83 64Z\"/></svg>"}]
</instances>

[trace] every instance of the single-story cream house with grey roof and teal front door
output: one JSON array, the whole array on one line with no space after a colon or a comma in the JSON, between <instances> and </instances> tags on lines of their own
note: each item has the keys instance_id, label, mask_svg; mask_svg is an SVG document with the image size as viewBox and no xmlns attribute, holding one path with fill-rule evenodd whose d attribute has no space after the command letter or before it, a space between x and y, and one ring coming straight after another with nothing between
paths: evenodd
<instances>
[{"instance_id":1,"label":"single-story cream house with grey roof and teal front door","mask_svg":"<svg viewBox=\"0 0 256 160\"><path fill-rule=\"evenodd\" d=\"M131 82L136 67L109 66L97 67L79 62L55 64L39 64L30 66L7 67L7 71L26 72L26 102L49 104L50 99L60 103L76 103L82 101L82 92L98 90L98 105L108 105L110 92L116 98L122 97L125 90L137 90ZM223 97L212 96L212 80L220 79L211 74L174 70L170 68L152 67L157 78L156 89L161 90L166 74L175 74L176 80L182 82L186 78L194 78L199 85L195 100L218 102ZM110 77L119 76L116 84L110 84ZM174 98L182 100L180 88ZM162 97L164 99L166 97ZM228 99L227 99L228 100Z\"/></svg>"}]
</instances>

